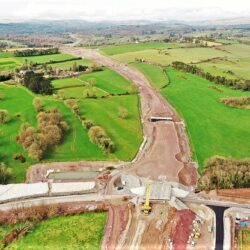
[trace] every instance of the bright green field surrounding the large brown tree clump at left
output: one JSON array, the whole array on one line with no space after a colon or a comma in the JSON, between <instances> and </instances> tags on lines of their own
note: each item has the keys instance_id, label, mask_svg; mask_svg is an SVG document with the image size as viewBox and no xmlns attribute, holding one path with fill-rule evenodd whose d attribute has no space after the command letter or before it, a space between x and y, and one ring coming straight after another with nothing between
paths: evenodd
<instances>
[{"instance_id":1,"label":"bright green field surrounding the large brown tree clump at left","mask_svg":"<svg viewBox=\"0 0 250 250\"><path fill-rule=\"evenodd\" d=\"M6 86L0 84L0 92L4 99L0 101L0 109L7 109L12 117L11 121L0 126L0 156L15 176L13 181L20 182L25 179L25 172L30 164L35 160L29 158L23 148L16 143L16 136L19 133L21 124L28 122L36 126L36 112L32 101L34 95L22 87ZM50 150L45 156L46 161L66 161L66 160L98 160L107 159L108 156L94 144L90 143L87 131L83 129L80 121L64 105L62 101L52 98L43 98L46 108L58 108L64 119L68 122L70 129L64 137L64 141L54 150ZM17 118L16 114L21 117ZM13 160L15 153L22 153L26 156L26 163L21 164Z\"/></svg>"}]
</instances>

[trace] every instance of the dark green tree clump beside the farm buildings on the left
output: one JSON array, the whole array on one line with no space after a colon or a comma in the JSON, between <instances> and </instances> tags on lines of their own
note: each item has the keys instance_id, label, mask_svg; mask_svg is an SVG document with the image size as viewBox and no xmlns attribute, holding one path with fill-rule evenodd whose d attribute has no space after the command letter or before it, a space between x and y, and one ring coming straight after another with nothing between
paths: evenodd
<instances>
[{"instance_id":1,"label":"dark green tree clump beside the farm buildings on the left","mask_svg":"<svg viewBox=\"0 0 250 250\"><path fill-rule=\"evenodd\" d=\"M53 93L53 86L49 79L45 79L41 73L28 71L23 78L23 84L36 94L51 95Z\"/></svg>"}]
</instances>

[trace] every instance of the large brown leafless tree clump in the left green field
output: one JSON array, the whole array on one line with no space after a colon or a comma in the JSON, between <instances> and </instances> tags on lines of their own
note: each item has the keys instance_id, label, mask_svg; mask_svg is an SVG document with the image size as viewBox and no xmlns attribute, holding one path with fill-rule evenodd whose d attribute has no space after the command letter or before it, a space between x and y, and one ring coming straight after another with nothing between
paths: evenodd
<instances>
[{"instance_id":1,"label":"large brown leafless tree clump in the left green field","mask_svg":"<svg viewBox=\"0 0 250 250\"><path fill-rule=\"evenodd\" d=\"M22 126L16 140L31 157L41 160L48 148L60 143L68 129L68 124L63 120L58 109L39 112L37 119L38 129L26 123Z\"/></svg>"}]
</instances>

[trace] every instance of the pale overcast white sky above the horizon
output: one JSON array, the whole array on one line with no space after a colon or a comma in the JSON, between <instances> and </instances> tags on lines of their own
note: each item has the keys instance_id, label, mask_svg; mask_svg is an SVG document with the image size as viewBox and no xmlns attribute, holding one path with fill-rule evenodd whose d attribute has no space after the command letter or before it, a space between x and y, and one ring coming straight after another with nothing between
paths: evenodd
<instances>
[{"instance_id":1,"label":"pale overcast white sky above the horizon","mask_svg":"<svg viewBox=\"0 0 250 250\"><path fill-rule=\"evenodd\" d=\"M0 21L207 20L250 17L250 0L0 0Z\"/></svg>"}]
</instances>

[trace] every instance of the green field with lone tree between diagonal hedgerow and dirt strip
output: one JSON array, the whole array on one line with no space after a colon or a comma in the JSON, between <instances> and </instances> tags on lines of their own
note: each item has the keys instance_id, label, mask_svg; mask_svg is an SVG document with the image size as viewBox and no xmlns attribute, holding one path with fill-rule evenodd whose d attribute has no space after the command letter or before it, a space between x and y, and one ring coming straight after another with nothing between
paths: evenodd
<instances>
[{"instance_id":1,"label":"green field with lone tree between diagonal hedgerow and dirt strip","mask_svg":"<svg viewBox=\"0 0 250 250\"><path fill-rule=\"evenodd\" d=\"M81 113L106 130L116 145L115 155L121 160L131 161L142 142L138 103L137 95L84 99L80 102ZM128 110L127 118L118 116L119 107Z\"/></svg>"}]
</instances>

